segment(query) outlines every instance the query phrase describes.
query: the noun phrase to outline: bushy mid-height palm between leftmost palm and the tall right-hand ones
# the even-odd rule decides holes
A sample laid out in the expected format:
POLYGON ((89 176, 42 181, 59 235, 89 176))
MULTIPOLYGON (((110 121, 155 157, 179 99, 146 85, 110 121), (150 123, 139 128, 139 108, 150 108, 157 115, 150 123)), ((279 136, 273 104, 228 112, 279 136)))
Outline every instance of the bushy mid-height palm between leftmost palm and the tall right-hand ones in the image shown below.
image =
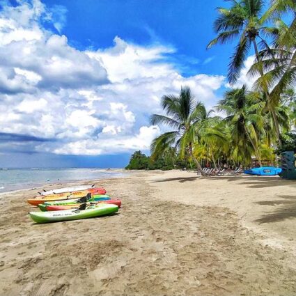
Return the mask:
POLYGON ((263 104, 258 101, 256 93, 248 92, 246 86, 226 91, 224 100, 219 101, 216 108, 226 113, 224 121, 231 127, 235 146, 247 151, 247 146, 251 143, 258 163, 262 166, 259 141, 264 126, 261 114, 263 104))

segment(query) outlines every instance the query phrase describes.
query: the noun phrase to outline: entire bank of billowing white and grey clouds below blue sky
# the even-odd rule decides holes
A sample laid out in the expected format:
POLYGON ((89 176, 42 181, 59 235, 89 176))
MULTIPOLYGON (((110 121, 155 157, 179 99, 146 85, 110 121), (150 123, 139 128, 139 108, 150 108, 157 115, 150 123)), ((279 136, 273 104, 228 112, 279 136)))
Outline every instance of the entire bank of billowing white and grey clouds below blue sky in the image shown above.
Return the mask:
POLYGON ((65 13, 39 0, 0 12, 1 130, 55 139, 30 141, 31 150, 62 155, 147 150, 161 132, 149 117, 162 112, 162 95, 178 94, 187 85, 207 107, 217 102, 224 77, 183 77, 167 59, 176 53, 171 46, 141 46, 118 36, 110 48, 70 46, 57 33, 65 13), (44 22, 55 30, 45 29, 44 22))

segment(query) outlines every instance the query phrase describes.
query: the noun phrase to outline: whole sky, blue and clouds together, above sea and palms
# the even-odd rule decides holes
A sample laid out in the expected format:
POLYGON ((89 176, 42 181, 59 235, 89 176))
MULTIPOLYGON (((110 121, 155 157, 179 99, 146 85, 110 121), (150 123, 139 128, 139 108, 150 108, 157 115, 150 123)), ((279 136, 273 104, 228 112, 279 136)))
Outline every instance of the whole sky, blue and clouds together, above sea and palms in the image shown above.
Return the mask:
POLYGON ((162 95, 210 108, 225 89, 233 46, 205 47, 227 2, 0 3, 0 167, 125 166, 162 132, 162 95))

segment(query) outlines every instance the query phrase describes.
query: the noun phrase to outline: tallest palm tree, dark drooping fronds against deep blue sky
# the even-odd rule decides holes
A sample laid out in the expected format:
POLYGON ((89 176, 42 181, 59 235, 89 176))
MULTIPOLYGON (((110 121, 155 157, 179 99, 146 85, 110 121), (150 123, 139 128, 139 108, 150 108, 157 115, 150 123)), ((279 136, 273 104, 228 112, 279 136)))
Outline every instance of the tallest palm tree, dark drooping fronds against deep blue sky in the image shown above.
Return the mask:
MULTIPOLYGON (((235 52, 231 57, 231 62, 228 65, 228 80, 231 84, 234 84, 240 75, 240 70, 247 58, 251 45, 253 45, 256 55, 259 75, 264 75, 258 45, 264 47, 267 52, 270 51, 266 37, 270 36, 270 32, 273 28, 264 26, 266 17, 261 16, 264 6, 262 0, 231 0, 231 2, 233 5, 230 9, 218 9, 219 17, 214 25, 218 36, 208 44, 207 48, 217 43, 224 44, 233 41, 235 38, 239 39, 235 47, 235 52)), ((267 86, 264 84, 262 86, 263 92, 265 93, 267 108, 272 113, 272 118, 274 120, 276 137, 281 145, 279 123, 274 111, 274 105, 270 103, 270 94, 267 86)))

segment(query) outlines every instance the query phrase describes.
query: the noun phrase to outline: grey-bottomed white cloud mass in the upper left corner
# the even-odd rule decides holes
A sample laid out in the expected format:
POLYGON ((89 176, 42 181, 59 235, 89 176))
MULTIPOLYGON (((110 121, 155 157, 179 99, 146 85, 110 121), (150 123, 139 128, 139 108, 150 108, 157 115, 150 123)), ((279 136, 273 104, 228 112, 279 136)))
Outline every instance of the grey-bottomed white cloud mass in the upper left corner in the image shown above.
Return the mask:
POLYGON ((13 91, 23 90, 26 81, 19 82, 18 77, 14 77, 15 81, 10 79, 14 69, 38 75, 40 88, 79 88, 106 83, 107 72, 100 61, 70 47, 65 36, 40 26, 40 17, 46 15, 45 12, 39 1, 33 1, 31 10, 24 2, 17 8, 6 7, 1 11, 0 66, 5 70, 6 79, 0 80, 0 87, 1 84, 9 87, 7 81, 10 80, 10 84, 23 86, 13 91))

